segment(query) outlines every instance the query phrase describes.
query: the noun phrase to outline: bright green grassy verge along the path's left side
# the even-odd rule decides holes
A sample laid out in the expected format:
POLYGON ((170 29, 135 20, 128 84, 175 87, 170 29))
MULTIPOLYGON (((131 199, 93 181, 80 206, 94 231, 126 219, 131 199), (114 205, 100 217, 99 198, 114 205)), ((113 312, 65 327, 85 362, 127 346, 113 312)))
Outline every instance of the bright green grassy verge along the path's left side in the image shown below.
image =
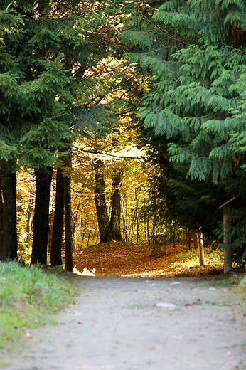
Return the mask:
MULTIPOLYGON (((73 303, 75 287, 34 266, 0 262, 0 349, 28 329, 52 323, 54 312, 73 303)), ((53 320, 54 321, 54 320, 53 320)))

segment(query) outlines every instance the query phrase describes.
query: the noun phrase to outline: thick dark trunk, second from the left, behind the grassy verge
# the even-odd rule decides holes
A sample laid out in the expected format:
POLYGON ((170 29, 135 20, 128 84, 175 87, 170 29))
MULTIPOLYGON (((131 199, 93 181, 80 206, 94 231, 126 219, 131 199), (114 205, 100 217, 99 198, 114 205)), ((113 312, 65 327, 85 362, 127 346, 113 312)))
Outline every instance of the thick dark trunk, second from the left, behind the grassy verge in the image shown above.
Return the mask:
POLYGON ((50 167, 35 171, 36 201, 33 217, 33 250, 31 264, 41 263, 41 265, 46 265, 52 172, 53 169, 50 167))

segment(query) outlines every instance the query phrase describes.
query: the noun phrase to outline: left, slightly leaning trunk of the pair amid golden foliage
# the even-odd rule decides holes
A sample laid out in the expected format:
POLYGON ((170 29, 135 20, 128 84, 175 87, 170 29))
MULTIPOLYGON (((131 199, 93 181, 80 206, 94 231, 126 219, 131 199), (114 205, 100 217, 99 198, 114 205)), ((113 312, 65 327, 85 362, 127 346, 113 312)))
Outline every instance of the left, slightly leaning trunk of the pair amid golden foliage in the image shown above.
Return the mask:
POLYGON ((109 216, 105 199, 105 179, 102 173, 103 162, 98 159, 94 163, 95 168, 95 206, 97 208, 97 220, 100 232, 100 243, 107 243, 112 240, 109 228, 109 216))

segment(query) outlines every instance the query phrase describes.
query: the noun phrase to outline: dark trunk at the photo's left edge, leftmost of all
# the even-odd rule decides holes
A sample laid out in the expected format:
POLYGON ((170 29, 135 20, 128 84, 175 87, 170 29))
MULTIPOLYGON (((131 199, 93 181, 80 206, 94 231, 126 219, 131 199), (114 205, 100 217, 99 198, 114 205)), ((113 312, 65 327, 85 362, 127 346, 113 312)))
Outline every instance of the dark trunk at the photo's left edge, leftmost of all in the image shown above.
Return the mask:
POLYGON ((11 169, 14 162, 1 162, 1 191, 4 203, 0 201, 1 223, 1 260, 17 258, 16 235, 16 174, 11 169))

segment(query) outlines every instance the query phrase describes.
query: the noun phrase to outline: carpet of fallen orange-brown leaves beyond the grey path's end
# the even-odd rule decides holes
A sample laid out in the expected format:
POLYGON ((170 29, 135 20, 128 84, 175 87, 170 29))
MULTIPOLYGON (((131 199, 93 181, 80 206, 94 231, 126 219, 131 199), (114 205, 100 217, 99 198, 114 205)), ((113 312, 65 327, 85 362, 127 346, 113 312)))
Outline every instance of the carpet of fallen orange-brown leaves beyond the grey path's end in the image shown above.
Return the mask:
POLYGON ((223 273, 223 251, 205 248, 205 266, 200 267, 198 250, 183 245, 109 242, 74 251, 75 272, 87 275, 172 277, 174 275, 219 275, 223 273))

